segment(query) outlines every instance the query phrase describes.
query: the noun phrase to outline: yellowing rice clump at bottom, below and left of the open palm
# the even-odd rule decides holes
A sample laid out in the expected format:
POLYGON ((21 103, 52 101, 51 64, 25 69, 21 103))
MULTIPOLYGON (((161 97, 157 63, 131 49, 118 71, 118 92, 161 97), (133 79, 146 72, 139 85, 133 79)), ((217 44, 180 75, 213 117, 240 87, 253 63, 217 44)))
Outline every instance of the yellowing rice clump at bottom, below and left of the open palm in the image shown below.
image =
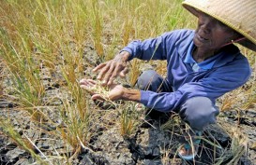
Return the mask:
POLYGON ((90 115, 88 109, 83 107, 83 112, 79 110, 79 105, 63 101, 63 108, 60 109, 61 117, 66 127, 57 129, 56 134, 66 142, 67 151, 71 153, 69 162, 76 158, 81 152, 82 146, 87 146, 91 136, 89 122, 90 115), (82 114, 83 113, 83 114, 82 114))

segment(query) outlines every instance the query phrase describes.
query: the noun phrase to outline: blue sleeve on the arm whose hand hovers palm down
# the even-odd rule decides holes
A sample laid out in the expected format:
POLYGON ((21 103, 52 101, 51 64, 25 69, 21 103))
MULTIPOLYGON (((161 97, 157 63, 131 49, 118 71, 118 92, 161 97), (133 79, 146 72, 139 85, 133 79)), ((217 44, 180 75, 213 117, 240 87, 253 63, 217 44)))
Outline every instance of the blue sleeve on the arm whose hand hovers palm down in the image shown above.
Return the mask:
POLYGON ((134 40, 128 44, 127 47, 121 51, 128 51, 131 55, 129 61, 133 58, 149 61, 149 60, 166 60, 167 49, 172 47, 173 32, 162 34, 156 38, 150 38, 146 40, 134 40))

